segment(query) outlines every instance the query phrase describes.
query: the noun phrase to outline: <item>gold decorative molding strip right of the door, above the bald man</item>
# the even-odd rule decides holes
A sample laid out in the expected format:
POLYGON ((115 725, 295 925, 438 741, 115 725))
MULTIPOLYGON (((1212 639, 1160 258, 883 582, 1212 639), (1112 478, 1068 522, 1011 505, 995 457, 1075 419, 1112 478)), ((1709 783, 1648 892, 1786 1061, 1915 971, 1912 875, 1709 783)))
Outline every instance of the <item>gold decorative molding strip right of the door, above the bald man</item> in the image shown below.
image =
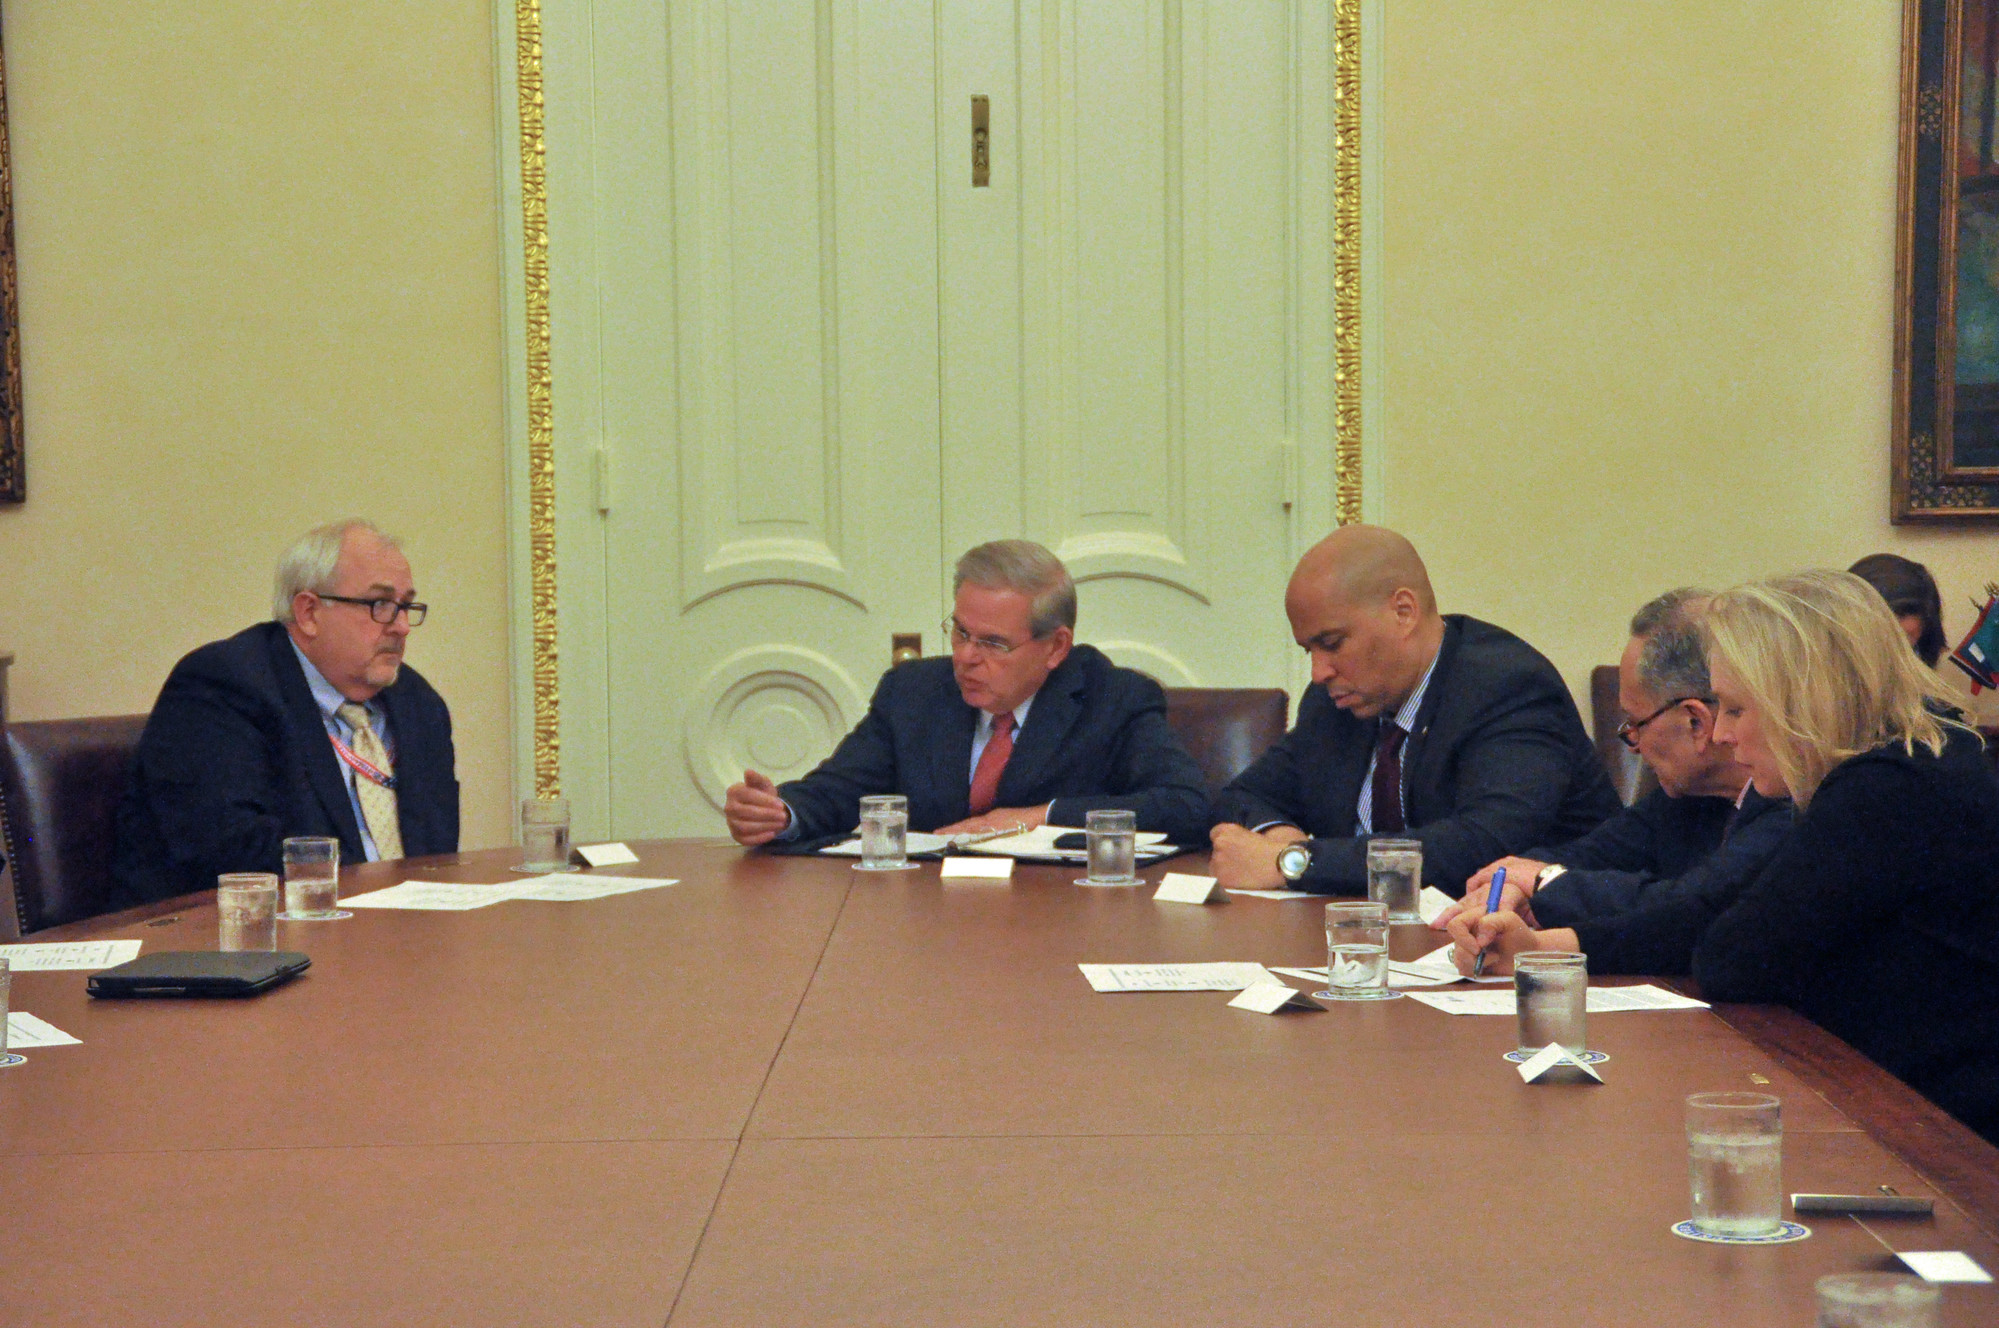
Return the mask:
POLYGON ((1333 478, 1361 518, 1361 0, 1333 0, 1333 478))

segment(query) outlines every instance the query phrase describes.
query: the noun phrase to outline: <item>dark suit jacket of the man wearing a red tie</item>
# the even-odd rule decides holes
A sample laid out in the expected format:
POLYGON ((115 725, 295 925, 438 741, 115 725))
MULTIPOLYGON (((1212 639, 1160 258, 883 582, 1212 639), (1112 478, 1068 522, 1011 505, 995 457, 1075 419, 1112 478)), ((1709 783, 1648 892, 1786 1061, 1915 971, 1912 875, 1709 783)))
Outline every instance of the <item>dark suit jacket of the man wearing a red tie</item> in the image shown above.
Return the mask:
MULTIPOLYGON (((910 828, 936 830, 972 814, 972 736, 948 658, 882 674, 868 714, 812 774, 778 786, 796 838, 846 834, 866 794, 910 798, 910 828)), ((1000 776, 998 806, 1053 802, 1049 822, 1081 826, 1083 812, 1127 808, 1139 830, 1175 844, 1207 838, 1201 770, 1165 726, 1165 694, 1145 674, 1117 668, 1093 646, 1069 650, 1033 696, 1000 776)))

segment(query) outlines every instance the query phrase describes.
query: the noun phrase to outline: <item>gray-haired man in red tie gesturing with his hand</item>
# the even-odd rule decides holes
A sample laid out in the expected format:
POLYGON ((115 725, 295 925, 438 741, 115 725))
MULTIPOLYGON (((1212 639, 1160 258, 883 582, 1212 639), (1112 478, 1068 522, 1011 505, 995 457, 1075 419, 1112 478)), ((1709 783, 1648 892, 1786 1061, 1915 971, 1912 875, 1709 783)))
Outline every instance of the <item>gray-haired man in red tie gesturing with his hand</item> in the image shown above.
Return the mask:
POLYGON ((868 794, 910 798, 910 828, 976 834, 1081 826, 1123 808, 1177 844, 1207 834, 1201 770, 1165 726, 1159 684, 1075 644, 1075 582, 1029 540, 958 560, 950 658, 882 676, 868 714, 818 770, 756 770, 728 792, 738 844, 846 836, 868 794))

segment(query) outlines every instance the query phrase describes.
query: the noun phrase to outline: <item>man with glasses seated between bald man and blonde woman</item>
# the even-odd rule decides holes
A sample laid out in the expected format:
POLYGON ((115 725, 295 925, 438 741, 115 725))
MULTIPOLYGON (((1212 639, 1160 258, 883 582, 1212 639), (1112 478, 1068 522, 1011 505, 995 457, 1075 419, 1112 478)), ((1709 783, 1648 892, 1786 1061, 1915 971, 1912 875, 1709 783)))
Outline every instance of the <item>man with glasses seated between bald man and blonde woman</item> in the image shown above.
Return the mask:
POLYGON ((1617 664, 1617 736, 1659 788, 1561 848, 1487 864, 1433 926, 1461 918, 1469 934, 1493 872, 1505 868, 1499 906, 1537 928, 1575 928, 1593 970, 1687 972, 1693 956, 1657 952, 1639 910, 1681 894, 1727 908, 1791 832, 1791 800, 1755 792, 1749 768, 1715 742, 1707 600, 1707 590, 1683 588, 1637 610, 1617 664))

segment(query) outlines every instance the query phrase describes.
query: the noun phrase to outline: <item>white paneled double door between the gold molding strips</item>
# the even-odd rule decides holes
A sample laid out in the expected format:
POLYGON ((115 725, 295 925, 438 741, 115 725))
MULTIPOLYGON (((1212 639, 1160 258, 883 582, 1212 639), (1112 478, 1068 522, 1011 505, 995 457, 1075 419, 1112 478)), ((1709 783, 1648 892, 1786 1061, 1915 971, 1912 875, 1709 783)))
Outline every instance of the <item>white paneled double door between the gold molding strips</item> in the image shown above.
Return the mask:
POLYGON ((714 834, 746 766, 810 770, 892 636, 946 648, 982 540, 1053 548, 1079 640, 1167 686, 1297 680, 1283 582, 1331 514, 1323 14, 596 0, 588 32, 558 382, 594 362, 572 414, 610 490, 558 536, 602 558, 564 766, 606 832, 714 834))

